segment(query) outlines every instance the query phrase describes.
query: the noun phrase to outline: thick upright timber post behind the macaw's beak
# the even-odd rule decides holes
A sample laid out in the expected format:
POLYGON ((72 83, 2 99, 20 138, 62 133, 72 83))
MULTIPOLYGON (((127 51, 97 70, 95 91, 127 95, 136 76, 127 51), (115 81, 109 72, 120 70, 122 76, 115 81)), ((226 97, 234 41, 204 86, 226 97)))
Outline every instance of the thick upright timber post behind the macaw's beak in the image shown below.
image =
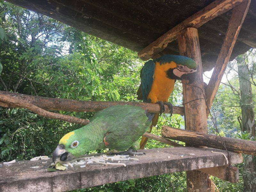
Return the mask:
MULTIPOLYGON (((207 133, 207 116, 203 90, 202 61, 196 28, 186 28, 177 35, 180 55, 196 61, 195 82, 186 85, 183 81, 183 103, 185 107, 185 127, 187 130, 207 133), (190 102, 191 101, 191 102, 190 102)), ((187 191, 204 192, 208 188, 208 174, 200 171, 187 172, 187 191)))

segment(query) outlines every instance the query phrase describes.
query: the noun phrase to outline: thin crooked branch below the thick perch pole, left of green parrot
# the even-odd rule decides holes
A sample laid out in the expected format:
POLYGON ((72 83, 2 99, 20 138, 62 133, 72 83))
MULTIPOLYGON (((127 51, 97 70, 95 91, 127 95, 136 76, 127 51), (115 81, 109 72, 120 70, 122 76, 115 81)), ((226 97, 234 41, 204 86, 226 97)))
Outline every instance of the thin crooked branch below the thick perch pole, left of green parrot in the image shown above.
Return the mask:
POLYGON ((0 100, 4 101, 6 103, 11 103, 17 107, 27 108, 27 109, 33 111, 34 113, 36 113, 40 116, 43 116, 43 117, 63 120, 63 121, 67 121, 70 123, 77 123, 77 124, 82 124, 82 125, 86 125, 89 123, 89 120, 80 119, 80 118, 69 116, 69 115, 62 115, 59 113, 52 113, 50 111, 46 111, 42 108, 39 108, 36 105, 33 105, 33 104, 27 102, 26 100, 20 100, 16 97, 8 97, 7 95, 4 95, 2 93, 0 93, 0 100))

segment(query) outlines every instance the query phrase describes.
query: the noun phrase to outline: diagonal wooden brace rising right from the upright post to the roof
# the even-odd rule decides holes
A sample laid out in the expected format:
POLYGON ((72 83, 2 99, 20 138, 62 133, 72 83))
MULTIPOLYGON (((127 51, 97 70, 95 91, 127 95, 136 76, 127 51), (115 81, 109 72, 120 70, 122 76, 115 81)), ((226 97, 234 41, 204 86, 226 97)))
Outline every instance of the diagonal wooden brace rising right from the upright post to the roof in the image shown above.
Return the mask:
MULTIPOLYGON (((220 53, 216 61, 216 65, 214 67, 212 77, 205 91, 206 102, 209 108, 211 108, 212 102, 218 91, 220 81, 227 67, 229 58, 235 46, 236 39, 238 37, 240 29, 242 28, 242 24, 248 12, 250 3, 251 3, 251 0, 245 0, 243 3, 239 4, 237 7, 233 9, 233 12, 228 24, 228 30, 226 32, 226 36, 224 39, 224 43, 220 49, 220 53)), ((209 110, 207 109, 207 116, 208 114, 209 114, 209 110)))

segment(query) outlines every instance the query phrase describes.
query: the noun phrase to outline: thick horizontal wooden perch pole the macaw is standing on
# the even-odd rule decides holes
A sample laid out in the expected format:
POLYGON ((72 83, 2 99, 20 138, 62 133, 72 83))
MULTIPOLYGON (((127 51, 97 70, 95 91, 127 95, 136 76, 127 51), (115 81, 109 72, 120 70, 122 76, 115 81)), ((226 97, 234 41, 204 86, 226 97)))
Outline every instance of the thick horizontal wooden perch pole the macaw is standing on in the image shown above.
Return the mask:
MULTIPOLYGON (((25 95, 20 93, 12 93, 0 91, 1 94, 12 97, 19 100, 25 100, 33 105, 36 105, 45 110, 60 110, 60 111, 76 111, 76 112, 85 112, 85 111, 100 111, 102 109, 108 108, 113 105, 132 105, 141 107, 148 112, 159 113, 160 107, 158 104, 151 103, 141 103, 141 102, 126 102, 126 101, 80 101, 80 100, 70 100, 70 99, 61 99, 61 98, 49 98, 49 97, 39 97, 32 95, 25 95)), ((1 100, 1 98, 0 98, 1 100)), ((2 107, 19 107, 15 104, 9 104, 0 102, 2 107)), ((164 113, 169 113, 169 108, 165 105, 164 113)), ((173 114, 184 115, 183 107, 173 106, 173 114)))

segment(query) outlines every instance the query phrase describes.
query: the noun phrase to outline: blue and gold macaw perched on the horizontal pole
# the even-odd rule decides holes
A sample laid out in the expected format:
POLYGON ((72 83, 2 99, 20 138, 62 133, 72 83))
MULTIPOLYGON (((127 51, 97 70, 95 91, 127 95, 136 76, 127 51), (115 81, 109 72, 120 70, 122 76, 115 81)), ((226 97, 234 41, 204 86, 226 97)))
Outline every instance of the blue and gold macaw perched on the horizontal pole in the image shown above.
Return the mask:
MULTIPOLYGON (((155 60, 147 61, 140 71, 140 88, 137 92, 138 99, 146 103, 157 103, 160 105, 160 115, 164 112, 166 104, 171 110, 172 104, 168 99, 177 79, 187 79, 189 84, 195 80, 196 62, 188 57, 179 55, 164 55, 155 60)), ((149 128, 156 126, 159 113, 155 113, 149 128)), ((140 149, 143 149, 148 138, 142 137, 140 149)))

